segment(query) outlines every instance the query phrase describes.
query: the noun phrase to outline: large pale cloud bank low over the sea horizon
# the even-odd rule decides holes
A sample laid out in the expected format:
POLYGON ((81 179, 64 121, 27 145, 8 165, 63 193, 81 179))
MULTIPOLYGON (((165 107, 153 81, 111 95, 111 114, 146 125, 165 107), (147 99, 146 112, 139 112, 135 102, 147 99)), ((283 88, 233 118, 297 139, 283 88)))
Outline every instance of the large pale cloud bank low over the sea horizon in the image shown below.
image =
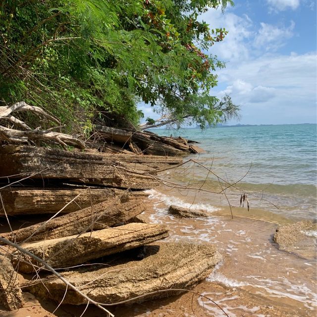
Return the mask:
POLYGON ((316 122, 316 61, 316 53, 291 53, 230 63, 218 72, 227 87, 217 95, 241 105, 242 123, 316 122))

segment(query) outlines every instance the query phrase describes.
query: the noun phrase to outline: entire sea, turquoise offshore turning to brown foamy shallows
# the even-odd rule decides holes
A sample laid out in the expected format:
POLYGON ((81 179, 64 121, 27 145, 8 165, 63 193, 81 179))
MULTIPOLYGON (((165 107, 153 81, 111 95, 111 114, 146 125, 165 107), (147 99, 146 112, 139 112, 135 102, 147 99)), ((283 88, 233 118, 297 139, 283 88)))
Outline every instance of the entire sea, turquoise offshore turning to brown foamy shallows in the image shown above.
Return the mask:
POLYGON ((199 142, 194 145, 206 153, 161 172, 162 185, 148 191, 150 221, 168 226, 166 242, 212 244, 222 261, 195 294, 137 305, 120 316, 315 317, 317 125, 152 131, 199 142), (209 216, 176 218, 170 205, 209 216), (312 222, 301 231, 304 238, 276 244, 278 226, 297 221, 312 222))

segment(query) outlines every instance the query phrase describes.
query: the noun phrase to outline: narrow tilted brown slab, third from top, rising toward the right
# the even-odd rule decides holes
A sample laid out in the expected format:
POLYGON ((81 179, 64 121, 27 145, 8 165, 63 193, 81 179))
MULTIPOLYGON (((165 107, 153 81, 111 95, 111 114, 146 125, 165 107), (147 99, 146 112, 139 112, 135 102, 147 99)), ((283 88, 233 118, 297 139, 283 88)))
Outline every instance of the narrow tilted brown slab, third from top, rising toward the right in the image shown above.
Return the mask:
POLYGON ((40 241, 67 237, 79 234, 83 230, 101 230, 116 224, 124 224, 125 221, 140 214, 145 209, 146 205, 140 200, 128 202, 118 200, 111 207, 109 207, 108 202, 102 202, 80 211, 53 218, 48 223, 43 221, 13 232, 3 233, 0 236, 16 243, 25 239, 28 239, 27 241, 40 241), (96 221, 97 217, 100 217, 98 221, 96 221), (35 231, 36 233, 31 237, 35 231))

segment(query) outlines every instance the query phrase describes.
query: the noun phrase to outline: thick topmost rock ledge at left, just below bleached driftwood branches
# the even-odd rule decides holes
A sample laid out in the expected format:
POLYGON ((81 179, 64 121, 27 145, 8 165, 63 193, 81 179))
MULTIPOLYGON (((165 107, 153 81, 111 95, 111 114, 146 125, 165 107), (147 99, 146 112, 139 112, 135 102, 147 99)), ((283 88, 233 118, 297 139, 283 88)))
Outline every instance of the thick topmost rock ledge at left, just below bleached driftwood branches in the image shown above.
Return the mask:
POLYGON ((104 158, 31 146, 1 146, 0 161, 0 176, 11 179, 23 175, 132 189, 150 189, 158 185, 147 171, 133 169, 111 156, 104 158))

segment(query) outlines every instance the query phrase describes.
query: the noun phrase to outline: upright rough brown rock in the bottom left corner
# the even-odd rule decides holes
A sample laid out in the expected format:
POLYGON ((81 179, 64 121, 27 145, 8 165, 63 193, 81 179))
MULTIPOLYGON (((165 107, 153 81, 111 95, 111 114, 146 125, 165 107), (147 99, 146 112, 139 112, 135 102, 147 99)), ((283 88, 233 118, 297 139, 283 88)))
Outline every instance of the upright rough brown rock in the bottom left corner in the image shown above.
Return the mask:
POLYGON ((23 304, 17 273, 10 260, 0 255, 0 305, 13 311, 23 307, 23 304))

